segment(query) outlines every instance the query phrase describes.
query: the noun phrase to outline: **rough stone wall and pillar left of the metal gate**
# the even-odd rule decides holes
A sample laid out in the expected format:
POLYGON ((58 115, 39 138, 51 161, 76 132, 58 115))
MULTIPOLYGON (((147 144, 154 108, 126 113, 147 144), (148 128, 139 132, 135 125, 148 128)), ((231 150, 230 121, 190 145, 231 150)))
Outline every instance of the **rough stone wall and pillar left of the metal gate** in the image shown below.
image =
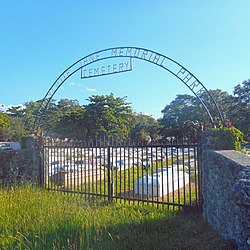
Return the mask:
POLYGON ((0 185, 10 186, 20 183, 39 183, 40 164, 36 142, 25 138, 22 149, 0 153, 0 185))

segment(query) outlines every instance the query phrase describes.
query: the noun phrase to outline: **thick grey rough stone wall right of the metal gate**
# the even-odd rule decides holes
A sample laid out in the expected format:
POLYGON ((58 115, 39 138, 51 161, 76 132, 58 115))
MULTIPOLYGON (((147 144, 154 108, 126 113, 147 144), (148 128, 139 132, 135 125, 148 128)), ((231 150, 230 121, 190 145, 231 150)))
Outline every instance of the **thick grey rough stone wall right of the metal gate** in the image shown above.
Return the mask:
POLYGON ((203 215, 238 249, 250 249, 250 157, 234 150, 211 150, 220 146, 212 136, 203 140, 203 215))

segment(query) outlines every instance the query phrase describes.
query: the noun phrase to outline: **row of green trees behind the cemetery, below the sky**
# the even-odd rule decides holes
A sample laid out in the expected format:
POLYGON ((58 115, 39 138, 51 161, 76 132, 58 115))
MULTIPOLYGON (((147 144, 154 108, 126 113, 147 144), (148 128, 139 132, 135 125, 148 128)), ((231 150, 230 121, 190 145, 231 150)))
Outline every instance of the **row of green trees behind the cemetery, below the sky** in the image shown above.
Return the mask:
MULTIPOLYGON (((250 80, 237 84, 233 95, 220 89, 209 90, 216 100, 223 118, 243 131, 250 139, 250 80)), ((200 98, 208 104, 217 126, 220 116, 206 92, 200 98)), ((77 100, 51 100, 43 114, 41 130, 44 135, 88 139, 114 136, 120 140, 155 140, 168 137, 196 138, 201 130, 212 127, 201 102, 194 96, 179 94, 166 104, 162 118, 135 113, 127 97, 93 95, 88 104, 81 106, 77 100)), ((33 133, 33 127, 42 100, 30 101, 0 113, 0 140, 20 140, 33 133)))

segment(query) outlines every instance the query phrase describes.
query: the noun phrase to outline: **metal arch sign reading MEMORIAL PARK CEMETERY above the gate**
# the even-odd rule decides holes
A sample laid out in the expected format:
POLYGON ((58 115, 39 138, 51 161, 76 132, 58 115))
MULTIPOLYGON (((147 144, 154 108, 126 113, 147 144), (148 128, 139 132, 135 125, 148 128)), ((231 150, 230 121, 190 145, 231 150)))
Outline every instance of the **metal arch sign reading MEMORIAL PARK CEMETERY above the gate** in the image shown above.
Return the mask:
POLYGON ((132 70, 132 62, 134 59, 144 60, 155 64, 169 73, 177 77, 183 82, 192 93, 199 99, 204 109, 206 110, 212 125, 214 126, 214 118, 212 117, 208 105, 200 98, 201 93, 206 92, 210 103, 213 103, 218 112, 218 116, 222 123, 224 123, 221 111, 215 102, 213 96, 208 92, 206 87, 185 67, 173 59, 164 56, 155 51, 138 48, 138 47, 115 47, 103 49, 92 54, 89 54, 70 67, 68 67, 52 84, 46 95, 44 96, 41 105, 38 109, 34 128, 37 131, 41 125, 44 111, 48 107, 49 102, 55 95, 57 90, 63 83, 76 72, 80 71, 81 78, 99 77, 110 74, 117 74, 132 70), (112 59, 112 63, 103 64, 104 60, 112 59))

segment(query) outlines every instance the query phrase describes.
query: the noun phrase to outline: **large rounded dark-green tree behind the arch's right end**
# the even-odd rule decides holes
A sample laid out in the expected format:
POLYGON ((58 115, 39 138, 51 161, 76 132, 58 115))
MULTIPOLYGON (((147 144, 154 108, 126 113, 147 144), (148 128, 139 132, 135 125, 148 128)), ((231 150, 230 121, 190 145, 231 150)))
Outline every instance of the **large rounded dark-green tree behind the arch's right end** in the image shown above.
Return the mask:
MULTIPOLYGON (((222 118, 230 121, 231 110, 236 104, 236 99, 220 89, 209 90, 209 92, 221 110, 222 118)), ((199 131, 214 125, 217 127, 221 125, 223 121, 208 93, 203 92, 200 98, 206 104, 214 124, 211 123, 212 121, 199 99, 190 95, 177 95, 175 100, 166 105, 162 111, 163 118, 160 119, 160 122, 164 126, 162 130, 164 136, 195 138, 199 131)))

